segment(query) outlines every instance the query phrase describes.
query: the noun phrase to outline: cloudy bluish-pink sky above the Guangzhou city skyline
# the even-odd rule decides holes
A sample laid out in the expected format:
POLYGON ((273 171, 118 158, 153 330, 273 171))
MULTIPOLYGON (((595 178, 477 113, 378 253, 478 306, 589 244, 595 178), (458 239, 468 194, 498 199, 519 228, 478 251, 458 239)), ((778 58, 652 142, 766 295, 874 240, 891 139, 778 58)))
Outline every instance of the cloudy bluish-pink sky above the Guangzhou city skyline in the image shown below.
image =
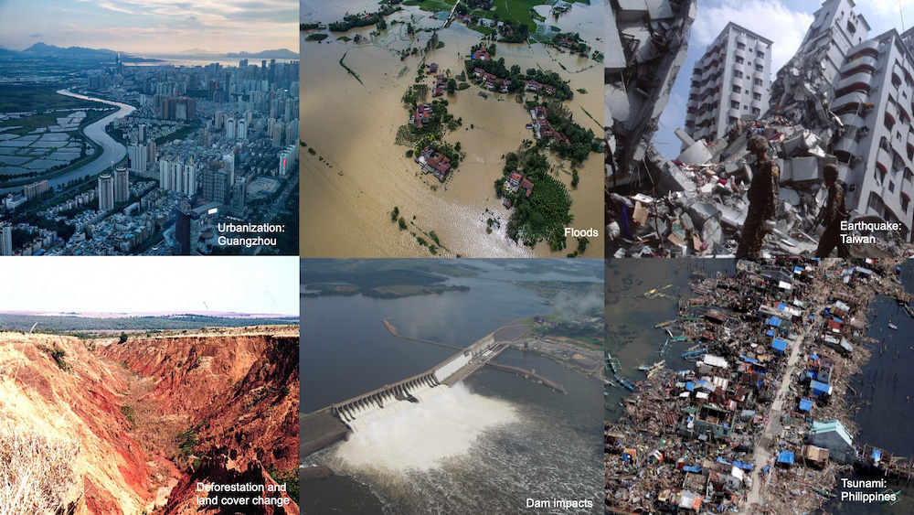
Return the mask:
POLYGON ((0 46, 298 51, 298 0, 0 0, 0 46))

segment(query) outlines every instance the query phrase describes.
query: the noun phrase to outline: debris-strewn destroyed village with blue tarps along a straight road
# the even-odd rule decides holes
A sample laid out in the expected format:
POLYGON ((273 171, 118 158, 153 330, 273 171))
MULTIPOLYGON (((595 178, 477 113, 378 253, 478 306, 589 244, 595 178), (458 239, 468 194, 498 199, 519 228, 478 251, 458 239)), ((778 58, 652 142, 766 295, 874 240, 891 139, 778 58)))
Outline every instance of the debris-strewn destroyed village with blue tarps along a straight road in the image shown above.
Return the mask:
MULTIPOLYGON (((885 333, 867 324, 879 295, 914 317, 901 263, 739 261, 735 272, 694 273, 687 294, 643 292, 675 303, 678 317, 643 329, 663 335, 644 375, 625 377, 607 356, 608 393, 627 395, 605 427, 606 512, 909 512, 891 507, 914 453, 856 437, 877 382, 898 385, 897 375, 858 374, 870 359, 914 352, 870 338, 885 333), (665 365, 683 359, 683 370, 665 365)), ((903 323, 878 329, 900 334, 903 323)))

